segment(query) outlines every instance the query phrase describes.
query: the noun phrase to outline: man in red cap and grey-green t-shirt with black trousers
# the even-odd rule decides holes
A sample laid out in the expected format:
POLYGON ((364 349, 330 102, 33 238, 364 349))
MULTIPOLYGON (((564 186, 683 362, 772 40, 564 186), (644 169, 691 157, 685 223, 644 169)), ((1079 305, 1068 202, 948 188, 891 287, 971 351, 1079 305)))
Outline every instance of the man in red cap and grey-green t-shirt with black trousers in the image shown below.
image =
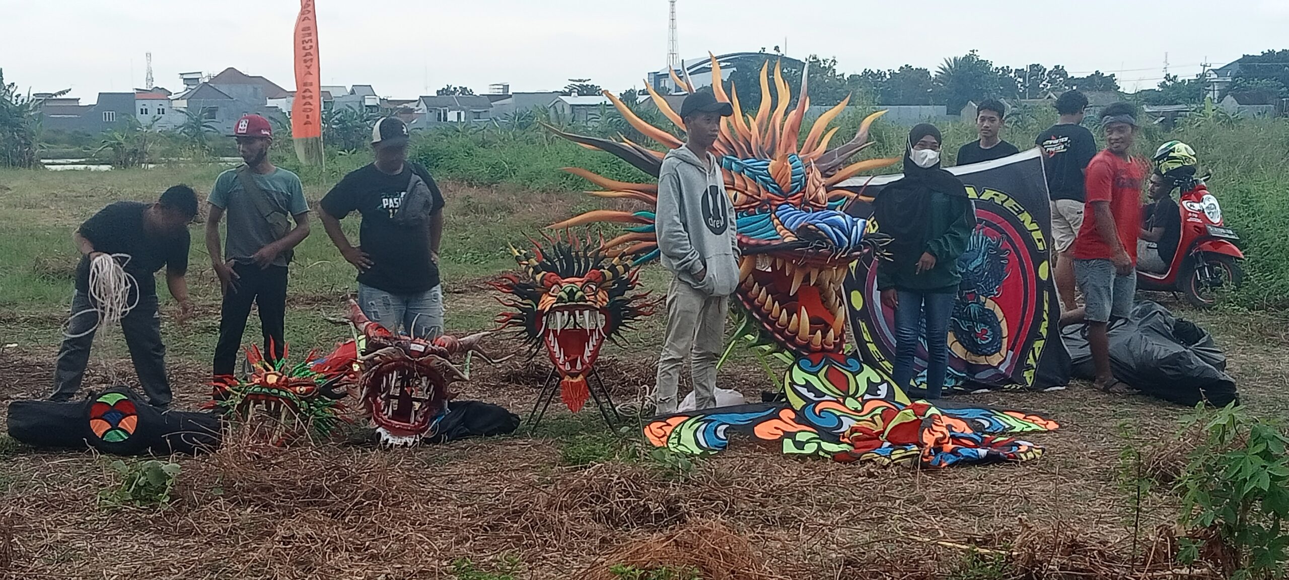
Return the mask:
POLYGON ((231 375, 241 348, 250 307, 259 307, 264 353, 282 357, 286 348, 286 266, 309 235, 309 206, 300 178, 268 161, 273 128, 259 115, 246 115, 233 129, 242 165, 215 179, 206 214, 206 250, 224 302, 219 309, 219 342, 214 375, 231 375), (228 242, 219 244, 219 222, 228 214, 228 242), (287 215, 295 220, 290 227, 287 215), (227 249, 227 255, 224 255, 227 249), (227 262, 224 260, 227 258, 227 262))

